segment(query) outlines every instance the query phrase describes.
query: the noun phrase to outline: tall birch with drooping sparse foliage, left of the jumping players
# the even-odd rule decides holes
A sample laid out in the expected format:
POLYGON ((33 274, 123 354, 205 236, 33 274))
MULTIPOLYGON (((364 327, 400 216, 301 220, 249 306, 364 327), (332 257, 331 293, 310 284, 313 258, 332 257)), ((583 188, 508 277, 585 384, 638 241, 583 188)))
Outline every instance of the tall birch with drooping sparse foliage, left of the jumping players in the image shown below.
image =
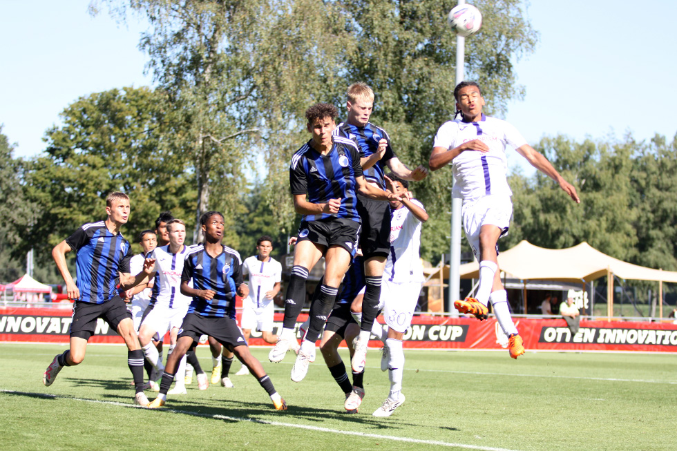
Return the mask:
POLYGON ((331 3, 324 8, 311 0, 105 3, 123 19, 131 8, 149 20, 140 47, 173 112, 173 144, 193 164, 198 217, 210 208, 236 210, 246 185, 245 163, 262 147, 291 152, 284 132, 295 133, 301 105, 312 102, 320 81, 334 77, 327 55, 341 46, 332 28, 325 28, 331 3))

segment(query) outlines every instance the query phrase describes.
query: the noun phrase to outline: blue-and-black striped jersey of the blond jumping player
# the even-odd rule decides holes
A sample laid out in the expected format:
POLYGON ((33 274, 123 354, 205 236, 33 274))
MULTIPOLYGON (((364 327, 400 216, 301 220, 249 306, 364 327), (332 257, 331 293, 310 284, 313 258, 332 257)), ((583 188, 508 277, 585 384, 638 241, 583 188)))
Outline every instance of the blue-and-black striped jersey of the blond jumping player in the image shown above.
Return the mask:
POLYGON ((367 125, 363 127, 354 126, 347 124, 347 122, 341 122, 336 128, 334 128, 334 136, 346 137, 357 145, 357 148, 360 151, 360 157, 370 157, 376 150, 379 148, 379 141, 385 139, 388 141, 388 146, 385 148, 385 153, 381 160, 376 162, 374 166, 369 169, 365 169, 364 177, 368 182, 374 182, 381 186, 381 189, 385 189, 385 165, 388 163, 388 160, 396 157, 395 153, 392 151, 392 146, 390 146, 390 136, 388 133, 385 133, 385 130, 379 126, 375 126, 371 122, 367 122, 367 125))

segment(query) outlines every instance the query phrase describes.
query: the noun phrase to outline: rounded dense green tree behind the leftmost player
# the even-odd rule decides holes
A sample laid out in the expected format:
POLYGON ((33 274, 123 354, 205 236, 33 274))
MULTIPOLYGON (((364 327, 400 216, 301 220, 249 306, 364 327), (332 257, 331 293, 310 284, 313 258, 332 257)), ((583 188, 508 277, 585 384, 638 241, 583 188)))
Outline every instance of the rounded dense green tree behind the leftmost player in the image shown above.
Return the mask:
POLYGON ((166 142, 162 105, 148 88, 124 88, 81 97, 61 113, 64 125, 46 134, 46 155, 28 165, 26 195, 39 209, 19 249, 39 243, 36 262, 50 264, 55 244, 106 217, 111 191, 130 197, 122 230, 130 242, 155 227, 160 211, 194 224, 195 191, 182 155, 166 142))

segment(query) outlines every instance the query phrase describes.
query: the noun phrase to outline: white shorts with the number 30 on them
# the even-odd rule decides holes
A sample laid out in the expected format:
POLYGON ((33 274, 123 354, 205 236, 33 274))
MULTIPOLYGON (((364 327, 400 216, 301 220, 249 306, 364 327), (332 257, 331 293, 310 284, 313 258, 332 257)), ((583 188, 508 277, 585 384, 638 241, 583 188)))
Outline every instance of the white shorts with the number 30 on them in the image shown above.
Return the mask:
POLYGON ((414 309, 421 294, 423 282, 390 282, 385 277, 381 283, 381 302, 385 324, 395 332, 407 332, 414 309))

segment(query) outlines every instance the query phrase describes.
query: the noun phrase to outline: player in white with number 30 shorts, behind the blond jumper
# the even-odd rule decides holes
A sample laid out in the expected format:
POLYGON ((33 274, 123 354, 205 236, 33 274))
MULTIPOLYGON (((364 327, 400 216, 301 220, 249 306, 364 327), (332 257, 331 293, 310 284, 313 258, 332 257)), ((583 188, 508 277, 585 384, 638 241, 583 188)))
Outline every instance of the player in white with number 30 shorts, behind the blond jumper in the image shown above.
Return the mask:
POLYGON ((385 175, 388 189, 402 195, 401 201, 390 202, 390 255, 383 271, 381 304, 388 325, 388 338, 383 348, 381 370, 388 370, 390 394, 374 416, 390 416, 404 403, 402 376, 404 352, 402 337, 411 325, 414 309, 423 287, 423 265, 419 257, 421 224, 428 220, 423 204, 410 197, 409 183, 390 173, 385 175))

